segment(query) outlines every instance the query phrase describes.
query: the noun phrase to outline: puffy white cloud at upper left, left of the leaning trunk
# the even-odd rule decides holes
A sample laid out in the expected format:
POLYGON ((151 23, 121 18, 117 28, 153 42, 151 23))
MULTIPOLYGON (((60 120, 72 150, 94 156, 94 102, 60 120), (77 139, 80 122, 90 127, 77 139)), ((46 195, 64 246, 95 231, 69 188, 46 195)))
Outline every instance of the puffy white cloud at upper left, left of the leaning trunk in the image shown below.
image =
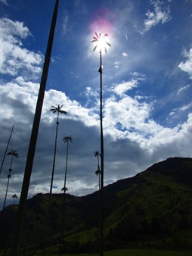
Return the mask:
POLYGON ((36 77, 41 71, 42 55, 23 48, 20 39, 31 36, 23 23, 9 19, 0 19, 0 72, 17 76, 20 70, 27 77, 33 73, 36 77))

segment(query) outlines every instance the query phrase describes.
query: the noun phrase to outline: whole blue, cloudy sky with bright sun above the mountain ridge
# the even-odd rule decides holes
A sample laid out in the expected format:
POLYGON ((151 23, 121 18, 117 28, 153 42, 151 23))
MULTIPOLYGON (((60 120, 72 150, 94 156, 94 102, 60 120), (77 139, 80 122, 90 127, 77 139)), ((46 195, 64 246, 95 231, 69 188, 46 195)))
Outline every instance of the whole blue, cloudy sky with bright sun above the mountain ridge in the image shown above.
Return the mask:
MULTIPOLYGON (((0 0, 0 162, 17 150, 8 188, 20 198, 54 0, 0 0)), ((104 186, 156 162, 192 155, 192 1, 60 0, 28 198, 50 190, 60 114, 54 193, 98 190, 100 56, 94 33, 107 33, 103 60, 104 186)), ((11 156, 0 176, 5 198, 11 156)))

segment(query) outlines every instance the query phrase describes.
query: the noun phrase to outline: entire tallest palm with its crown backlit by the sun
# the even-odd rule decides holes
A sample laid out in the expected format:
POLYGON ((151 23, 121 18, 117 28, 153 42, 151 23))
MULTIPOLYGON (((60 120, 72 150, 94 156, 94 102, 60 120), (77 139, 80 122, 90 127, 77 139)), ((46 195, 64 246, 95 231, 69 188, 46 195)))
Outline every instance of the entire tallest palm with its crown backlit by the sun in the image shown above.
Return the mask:
POLYGON ((93 36, 91 43, 94 43, 95 51, 97 48, 100 55, 100 67, 98 72, 100 73, 100 128, 101 128, 101 200, 100 200, 100 256, 104 255, 104 133, 103 133, 103 65, 102 65, 102 52, 107 52, 107 47, 111 47, 110 43, 106 41, 108 34, 101 35, 101 33, 96 33, 93 36))

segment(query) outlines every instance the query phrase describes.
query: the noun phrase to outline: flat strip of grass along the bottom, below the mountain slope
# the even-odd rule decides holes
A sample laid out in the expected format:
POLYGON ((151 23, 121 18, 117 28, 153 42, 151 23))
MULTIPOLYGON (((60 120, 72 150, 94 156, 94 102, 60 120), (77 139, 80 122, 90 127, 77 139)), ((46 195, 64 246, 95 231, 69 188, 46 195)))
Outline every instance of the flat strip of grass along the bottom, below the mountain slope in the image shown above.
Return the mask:
MULTIPOLYGON (((33 254, 33 256, 42 255, 42 252, 33 254)), ((45 254, 47 256, 48 254, 45 254)), ((51 256, 57 256, 58 254, 52 254, 51 256)), ((192 251, 156 251, 156 250, 114 250, 105 251, 104 256, 191 256, 192 251)), ((0 252, 0 256, 8 256, 0 252)), ((28 256, 26 254, 25 256, 28 256)), ((99 256, 99 254, 62 254, 62 256, 99 256)))

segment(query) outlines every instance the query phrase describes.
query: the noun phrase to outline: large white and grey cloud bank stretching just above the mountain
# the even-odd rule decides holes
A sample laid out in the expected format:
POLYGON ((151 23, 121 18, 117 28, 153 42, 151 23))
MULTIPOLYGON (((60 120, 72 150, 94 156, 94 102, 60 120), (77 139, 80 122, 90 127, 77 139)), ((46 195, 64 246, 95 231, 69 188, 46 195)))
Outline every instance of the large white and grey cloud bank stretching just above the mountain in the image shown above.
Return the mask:
MULTIPOLYGON (((181 126, 176 126, 172 129, 160 126, 150 118, 153 110, 152 104, 140 102, 137 100, 138 97, 131 98, 123 93, 137 83, 131 81, 130 84, 126 84, 127 87, 122 89, 121 99, 117 100, 116 96, 112 95, 104 102, 106 184, 129 176, 128 165, 132 166, 134 172, 136 172, 139 168, 144 168, 144 163, 149 165, 153 158, 157 161, 157 159, 161 160, 170 155, 177 155, 182 146, 185 149, 181 152, 186 155, 187 148, 189 148, 186 143, 190 144, 190 139, 186 142, 184 136, 192 136, 190 132, 192 127, 191 115, 189 115, 187 122, 181 126), (122 129, 119 129, 116 123, 121 123, 122 129), (175 141, 176 145, 174 144, 175 141), (116 150, 118 150, 117 155, 116 150), (147 153, 149 159, 145 156, 147 153), (130 160, 131 155, 132 161, 130 160), (139 158, 143 159, 144 163, 140 165, 139 161, 137 161, 138 165, 135 164, 136 155, 139 155, 139 158), (111 164, 111 159, 113 159, 113 164, 111 164), (116 168, 121 170, 121 173, 117 174, 116 168)), ((7 123, 7 127, 12 123, 15 124, 11 146, 17 147, 17 151, 20 153, 19 161, 14 161, 13 175, 11 177, 13 183, 10 186, 10 195, 17 193, 19 196, 20 194, 26 148, 29 142, 30 127, 33 123, 38 87, 38 84, 26 81, 19 76, 12 83, 2 85, 0 89, 0 96, 3 97, 1 98, 2 109, 4 110, 1 112, 2 124, 5 125, 7 123), (11 120, 11 123, 9 120, 11 120), (18 176, 19 173, 20 176, 18 176), (16 176, 17 182, 15 180, 16 176)), ((87 92, 92 96, 93 91, 91 88, 87 88, 87 92)), ((98 95, 93 96, 98 97, 98 95)), ((94 176, 97 161, 94 161, 93 156, 93 152, 98 150, 99 146, 98 113, 95 113, 94 108, 83 108, 78 101, 70 100, 65 93, 50 89, 45 92, 29 196, 38 192, 49 191, 56 121, 55 115, 49 109, 54 103, 63 104, 63 110, 67 111, 67 116, 60 115, 57 170, 54 178, 54 186, 57 186, 57 189, 54 192, 60 192, 60 188, 63 186, 62 179, 60 180, 64 154, 62 137, 67 134, 73 136, 73 145, 70 147, 67 183, 69 192, 75 195, 85 195, 93 192, 98 188, 97 176, 94 176), (74 184, 76 184, 75 187, 74 184)), ((2 138, 7 138, 8 129, 4 130, 1 125, 1 131, 2 138)), ((3 145, 6 145, 6 139, 3 145)), ((4 147, 2 146, 2 148, 4 147)), ((7 164, 5 164, 5 167, 7 164)), ((3 170, 2 175, 4 178, 2 179, 1 177, 0 187, 3 197, 7 175, 5 170, 3 170)))

